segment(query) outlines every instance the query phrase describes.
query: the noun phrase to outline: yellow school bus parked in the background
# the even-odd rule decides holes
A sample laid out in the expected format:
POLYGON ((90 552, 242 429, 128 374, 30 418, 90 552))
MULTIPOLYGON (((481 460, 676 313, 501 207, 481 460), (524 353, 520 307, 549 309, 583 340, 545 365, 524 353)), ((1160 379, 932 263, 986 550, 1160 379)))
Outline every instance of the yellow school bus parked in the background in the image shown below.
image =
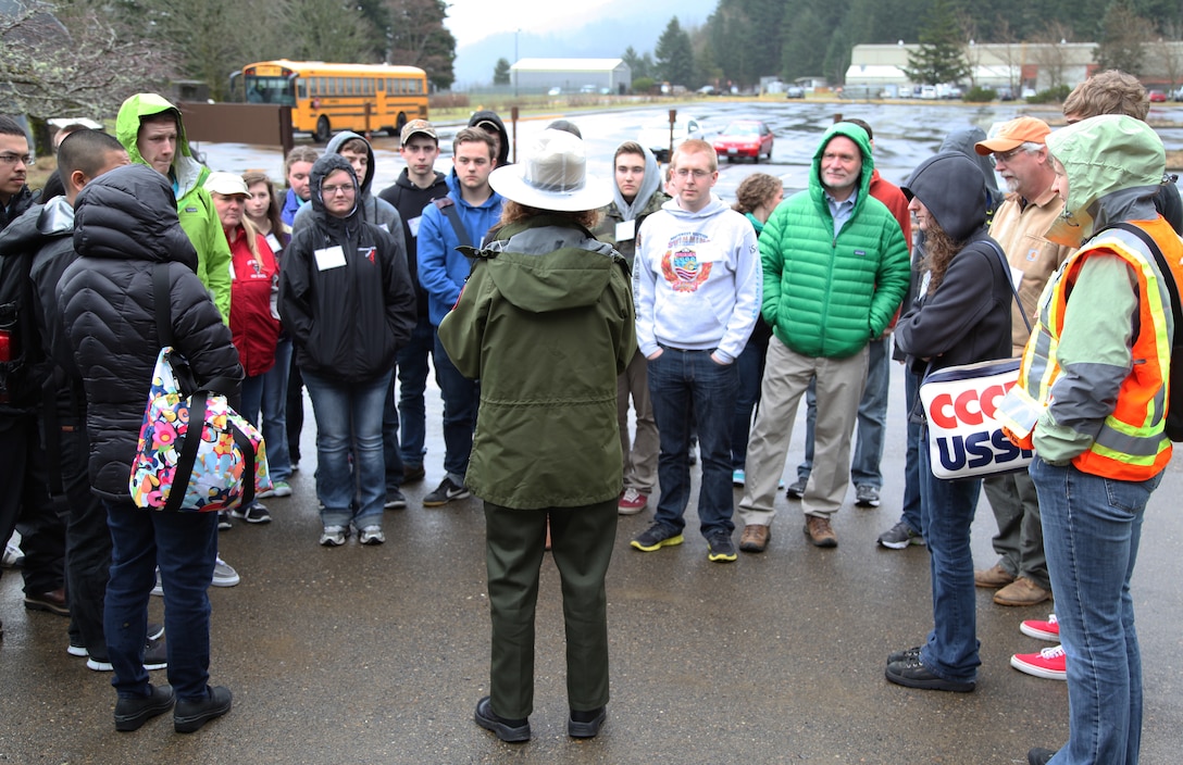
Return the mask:
POLYGON ((322 142, 337 130, 396 136, 412 119, 427 119, 427 74, 415 66, 258 61, 231 76, 231 92, 291 106, 292 130, 322 142))

